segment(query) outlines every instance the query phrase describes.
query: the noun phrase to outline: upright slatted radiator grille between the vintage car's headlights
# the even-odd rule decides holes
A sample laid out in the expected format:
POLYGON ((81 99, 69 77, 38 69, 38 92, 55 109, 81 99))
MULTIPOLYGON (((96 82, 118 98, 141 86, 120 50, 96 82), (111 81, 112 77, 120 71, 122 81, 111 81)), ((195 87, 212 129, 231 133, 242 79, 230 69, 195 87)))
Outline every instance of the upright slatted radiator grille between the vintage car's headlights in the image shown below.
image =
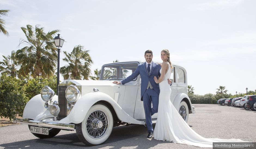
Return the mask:
POLYGON ((58 114, 57 120, 61 120, 68 116, 71 110, 67 109, 67 103, 65 97, 65 91, 68 86, 58 86, 58 102, 60 107, 60 113, 58 114))

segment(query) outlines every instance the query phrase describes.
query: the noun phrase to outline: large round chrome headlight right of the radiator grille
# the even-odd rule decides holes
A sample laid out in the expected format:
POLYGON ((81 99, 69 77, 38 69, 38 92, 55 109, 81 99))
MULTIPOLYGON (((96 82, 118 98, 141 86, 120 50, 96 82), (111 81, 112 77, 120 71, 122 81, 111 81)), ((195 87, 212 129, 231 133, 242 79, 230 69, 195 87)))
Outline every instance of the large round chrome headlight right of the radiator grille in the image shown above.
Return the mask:
POLYGON ((80 91, 78 88, 74 85, 70 85, 65 92, 66 99, 69 102, 75 102, 80 97, 80 91))

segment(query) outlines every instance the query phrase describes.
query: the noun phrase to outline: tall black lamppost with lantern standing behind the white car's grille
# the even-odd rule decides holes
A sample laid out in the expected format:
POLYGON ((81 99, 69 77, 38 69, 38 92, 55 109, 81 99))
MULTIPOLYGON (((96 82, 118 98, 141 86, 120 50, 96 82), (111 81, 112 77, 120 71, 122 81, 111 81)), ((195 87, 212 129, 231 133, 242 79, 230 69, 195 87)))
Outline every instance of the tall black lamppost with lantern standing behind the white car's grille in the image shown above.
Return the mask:
POLYGON ((58 63, 57 63, 57 95, 58 95, 58 85, 60 82, 60 48, 64 43, 64 39, 60 37, 60 34, 54 38, 55 46, 58 48, 58 63))

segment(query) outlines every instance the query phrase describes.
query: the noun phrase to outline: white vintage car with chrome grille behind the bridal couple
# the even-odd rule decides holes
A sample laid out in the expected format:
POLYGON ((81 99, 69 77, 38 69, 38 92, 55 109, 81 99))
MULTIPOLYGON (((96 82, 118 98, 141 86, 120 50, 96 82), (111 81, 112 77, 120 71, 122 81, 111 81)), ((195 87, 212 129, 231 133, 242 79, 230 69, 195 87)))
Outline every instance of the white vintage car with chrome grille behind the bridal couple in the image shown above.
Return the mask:
MULTIPOLYGON (((61 129, 76 129, 78 138, 86 145, 105 142, 115 126, 145 125, 140 76, 125 85, 112 83, 131 75, 143 62, 105 64, 100 80, 64 80, 58 86, 57 96, 45 86, 41 94, 30 99, 23 118, 16 122, 28 124, 31 133, 38 138, 54 137, 61 129)), ((181 66, 173 67, 170 100, 187 122, 188 114, 195 113, 187 96, 187 72, 181 66)), ((153 123, 156 119, 157 114, 154 114, 153 123)))

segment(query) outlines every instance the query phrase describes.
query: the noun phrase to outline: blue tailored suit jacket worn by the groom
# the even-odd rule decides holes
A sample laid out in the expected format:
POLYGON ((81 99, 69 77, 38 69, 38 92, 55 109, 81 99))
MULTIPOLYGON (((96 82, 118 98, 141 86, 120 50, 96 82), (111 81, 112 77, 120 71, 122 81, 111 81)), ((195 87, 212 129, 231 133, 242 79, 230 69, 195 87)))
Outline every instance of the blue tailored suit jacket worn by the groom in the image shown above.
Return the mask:
POLYGON ((121 83, 125 84, 135 79, 138 75, 141 75, 141 101, 142 101, 142 97, 148 86, 148 81, 150 81, 151 85, 153 86, 153 89, 158 94, 160 93, 159 84, 157 84, 154 80, 154 76, 159 78, 159 76, 161 75, 160 69, 161 69, 161 66, 153 62, 151 72, 150 74, 148 74, 148 71, 146 69, 146 62, 144 62, 142 64, 139 64, 135 72, 133 72, 132 75, 122 80, 121 83))

